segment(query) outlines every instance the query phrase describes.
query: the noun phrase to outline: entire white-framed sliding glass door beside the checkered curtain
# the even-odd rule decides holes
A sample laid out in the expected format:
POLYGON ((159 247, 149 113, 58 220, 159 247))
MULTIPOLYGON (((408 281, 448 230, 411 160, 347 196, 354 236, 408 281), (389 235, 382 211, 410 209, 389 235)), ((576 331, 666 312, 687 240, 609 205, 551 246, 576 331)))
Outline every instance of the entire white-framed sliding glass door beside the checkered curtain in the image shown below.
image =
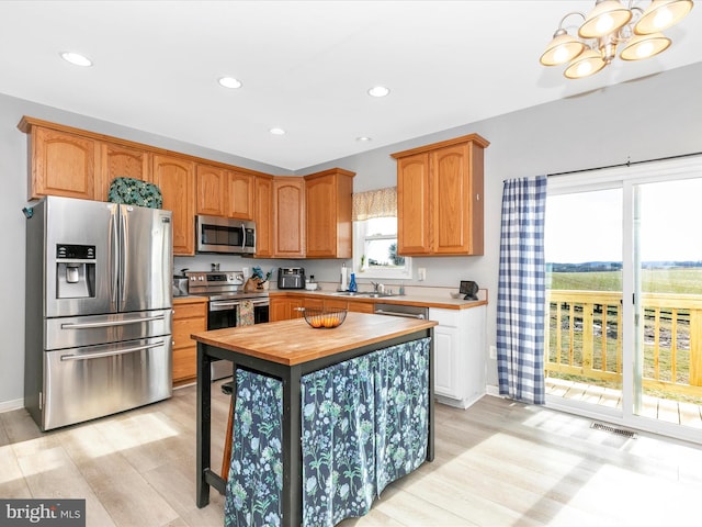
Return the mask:
POLYGON ((547 403, 699 441, 702 162, 587 176, 548 181, 547 403))

